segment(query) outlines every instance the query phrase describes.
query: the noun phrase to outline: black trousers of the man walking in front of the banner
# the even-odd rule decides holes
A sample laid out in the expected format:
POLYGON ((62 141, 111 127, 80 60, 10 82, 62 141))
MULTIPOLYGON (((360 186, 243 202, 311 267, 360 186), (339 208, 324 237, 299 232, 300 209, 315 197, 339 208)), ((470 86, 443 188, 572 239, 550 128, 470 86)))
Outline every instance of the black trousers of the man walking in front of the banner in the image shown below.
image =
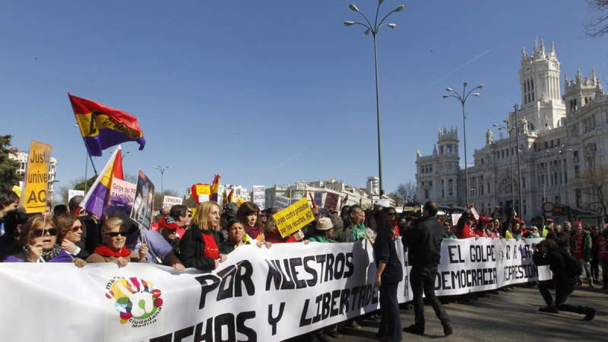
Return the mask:
POLYGON ((422 294, 429 299, 433 305, 435 315, 441 321, 443 326, 450 325, 450 318, 447 316, 446 310, 443 309, 441 302, 435 296, 435 278, 437 278, 437 266, 435 267, 412 267, 410 271, 410 285, 412 285, 412 293, 414 296, 414 325, 417 329, 424 330, 424 299, 422 294))

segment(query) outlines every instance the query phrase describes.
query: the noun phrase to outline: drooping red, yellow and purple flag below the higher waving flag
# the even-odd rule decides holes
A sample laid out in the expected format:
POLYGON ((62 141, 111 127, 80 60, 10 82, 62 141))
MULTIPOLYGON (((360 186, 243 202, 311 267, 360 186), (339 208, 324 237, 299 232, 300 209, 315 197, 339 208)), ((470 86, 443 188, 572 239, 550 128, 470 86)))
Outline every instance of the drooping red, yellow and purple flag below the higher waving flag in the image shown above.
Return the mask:
POLYGON ((122 172, 122 148, 120 145, 112 153, 102 173, 97 176, 97 180, 95 180, 95 183, 93 183, 86 193, 85 198, 80 203, 81 209, 85 209, 97 217, 102 217, 103 208, 108 204, 110 187, 114 178, 124 180, 122 172))

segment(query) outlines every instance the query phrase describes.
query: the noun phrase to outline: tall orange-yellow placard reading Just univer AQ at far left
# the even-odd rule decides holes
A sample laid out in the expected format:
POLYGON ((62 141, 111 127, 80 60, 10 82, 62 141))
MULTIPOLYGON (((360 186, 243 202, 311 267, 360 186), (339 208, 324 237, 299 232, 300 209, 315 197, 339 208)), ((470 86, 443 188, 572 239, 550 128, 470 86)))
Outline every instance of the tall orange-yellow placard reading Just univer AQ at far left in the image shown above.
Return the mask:
POLYGON ((51 145, 44 142, 32 141, 30 144, 20 201, 28 214, 46 211, 50 150, 51 145))

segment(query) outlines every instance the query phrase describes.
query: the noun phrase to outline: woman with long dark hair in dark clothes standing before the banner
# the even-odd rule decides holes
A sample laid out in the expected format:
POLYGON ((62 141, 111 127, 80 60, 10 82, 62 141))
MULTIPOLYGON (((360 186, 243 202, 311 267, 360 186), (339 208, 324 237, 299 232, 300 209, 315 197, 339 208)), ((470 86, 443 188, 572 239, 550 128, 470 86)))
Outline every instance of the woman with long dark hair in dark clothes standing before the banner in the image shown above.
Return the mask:
POLYGON ((386 212, 378 212, 376 227, 378 236, 374 244, 374 258, 378 272, 375 285, 380 288, 380 310, 382 312, 378 337, 381 341, 401 341, 401 316, 397 287, 403 279, 403 267, 397 258, 395 235, 392 234, 392 223, 386 212))

